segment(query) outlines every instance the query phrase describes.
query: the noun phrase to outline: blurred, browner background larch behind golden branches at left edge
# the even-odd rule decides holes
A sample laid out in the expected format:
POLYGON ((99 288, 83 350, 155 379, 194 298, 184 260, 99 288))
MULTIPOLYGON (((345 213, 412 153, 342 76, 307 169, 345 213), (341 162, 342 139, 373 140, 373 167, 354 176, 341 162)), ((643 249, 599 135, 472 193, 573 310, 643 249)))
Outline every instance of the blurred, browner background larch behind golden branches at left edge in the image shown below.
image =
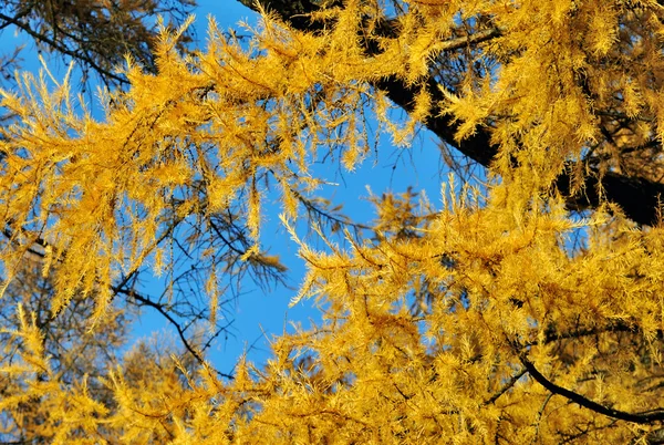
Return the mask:
MULTIPOLYGON (((139 60, 144 69, 156 72, 152 45, 156 41, 158 14, 170 22, 181 22, 190 12, 191 1, 6 1, 0 7, 0 30, 22 34, 25 43, 32 42, 48 62, 75 62, 76 90, 85 92, 96 81, 108 87, 124 87, 127 80, 115 71, 115 66, 126 54, 139 60)), ((180 50, 193 39, 191 32, 180 39, 180 50)), ((4 50, 6 48, 3 48, 4 50)), ((9 49, 0 55, 0 82, 7 90, 15 86, 14 71, 22 63, 25 46, 9 49)), ((17 116, 4 108, 1 122, 8 125, 17 116)), ((11 239, 12 232, 4 225, 2 246, 11 239)), ((42 246, 43 247, 43 246, 42 246)), ((43 250, 39 246, 30 249, 14 270, 15 279, 8 283, 0 299, 0 342, 2 355, 0 366, 15 366, 19 353, 24 353, 28 343, 15 335, 21 323, 32 321, 39 328, 41 346, 50 358, 52 371, 62 384, 73 384, 85 380, 86 391, 96 400, 110 404, 112 392, 100 382, 108 368, 123 363, 132 366, 136 362, 133 352, 124 353, 132 322, 143 307, 151 307, 176 323, 180 330, 186 322, 200 317, 200 308, 195 301, 168 304, 165 301, 149 301, 141 294, 128 294, 133 281, 124 283, 123 301, 116 302, 108 312, 101 329, 91 330, 90 314, 94 299, 75 292, 71 303, 59 317, 53 317, 53 273, 42 273, 43 250), (23 315, 17 309, 21 307, 23 315)), ((180 281, 185 282, 186 278, 180 281)), ((196 341, 185 340, 178 348, 196 341)), ((177 352, 173 348, 169 353, 177 352)), ((144 354, 154 354, 156 344, 136 345, 144 354)), ((190 352, 184 352, 185 363, 193 360, 190 352)), ((162 359, 163 360, 163 359, 162 359)), ((152 361, 151 365, 157 363, 152 361)), ((189 365, 189 364, 188 364, 189 365)), ((135 365, 134 365, 135 368, 135 365)), ((18 370, 18 368, 14 368, 18 370)), ((43 379, 41 376, 40 379, 43 379)), ((41 381, 41 380, 40 380, 41 381)), ((0 418, 0 443, 51 443, 53 423, 59 417, 50 415, 53 405, 44 403, 30 386, 31 379, 20 372, 0 380, 0 403, 9 403, 14 410, 3 410, 0 418)))

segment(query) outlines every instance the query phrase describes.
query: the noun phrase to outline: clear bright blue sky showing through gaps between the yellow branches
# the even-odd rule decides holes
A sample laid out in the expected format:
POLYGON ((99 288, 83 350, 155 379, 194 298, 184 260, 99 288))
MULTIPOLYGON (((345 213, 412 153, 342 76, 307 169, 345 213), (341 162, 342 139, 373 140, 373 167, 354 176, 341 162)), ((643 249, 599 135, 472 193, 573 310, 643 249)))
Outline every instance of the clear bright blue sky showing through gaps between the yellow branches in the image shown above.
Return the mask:
MULTIPOLYGON (((255 24, 257 15, 235 0, 224 1, 198 1, 195 9, 196 34, 199 39, 198 45, 205 45, 207 35, 207 18, 214 15, 220 28, 236 25, 240 20, 255 24)), ((4 32, 0 37, 2 52, 13 49, 22 35, 13 35, 4 32)), ((39 63, 33 45, 28 44, 24 52, 25 69, 37 71, 39 63)), ((48 60, 56 77, 64 74, 63 63, 56 60, 48 60)), ((440 203, 440 172, 442 162, 439 151, 436 146, 435 136, 422 132, 415 138, 411 149, 403 152, 390 144, 388 137, 381 138, 377 158, 370 157, 355 172, 341 170, 338 165, 320 165, 315 169, 329 183, 320 193, 332 199, 335 204, 343 204, 344 211, 359 221, 371 221, 373 208, 367 203, 366 186, 371 187, 374 195, 392 190, 405 192, 413 186, 415 192, 426 190, 429 200, 437 205, 440 203)), ((300 322, 303 327, 310 324, 310 320, 320 321, 319 311, 313 308, 313 301, 301 301, 293 308, 289 308, 291 298, 297 293, 297 288, 304 275, 304 265, 297 257, 298 247, 290 239, 279 221, 278 196, 272 194, 268 203, 264 203, 264 226, 262 228, 261 242, 269 248, 272 255, 279 255, 289 268, 289 287, 277 287, 266 292, 246 280, 242 286, 242 294, 237 302, 226 307, 224 313, 228 320, 234 320, 228 338, 221 338, 210 351, 208 359, 224 373, 231 372, 238 358, 246 351, 249 360, 255 363, 264 363, 269 358, 269 340, 272 335, 280 334, 284 329, 290 330, 290 323, 300 322)), ((299 231, 305 235, 307 227, 300 224, 299 231)), ((162 292, 162 284, 156 279, 146 281, 144 291, 157 296, 162 292)), ((165 321, 155 312, 146 309, 144 317, 134 329, 134 337, 149 337, 151 332, 165 328, 165 321)))

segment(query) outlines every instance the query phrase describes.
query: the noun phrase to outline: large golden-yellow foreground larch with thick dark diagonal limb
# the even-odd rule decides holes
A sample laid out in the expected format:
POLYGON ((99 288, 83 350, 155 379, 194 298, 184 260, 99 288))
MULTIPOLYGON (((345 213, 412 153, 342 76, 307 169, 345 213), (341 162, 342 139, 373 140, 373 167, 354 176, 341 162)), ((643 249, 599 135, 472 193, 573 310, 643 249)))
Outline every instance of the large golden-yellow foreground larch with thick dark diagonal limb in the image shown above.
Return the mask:
POLYGON ((163 27, 156 70, 128 54, 102 117, 68 79, 3 93, 2 333, 21 346, 0 373, 23 395, 2 420, 39 400, 27 416, 54 443, 664 443, 664 7, 247 4, 248 40, 211 21, 187 52, 188 23, 163 27), (376 196, 361 226, 318 198, 313 162, 352 172, 381 134, 402 149, 423 127, 457 172, 439 205, 376 196), (209 337, 181 331, 186 354, 139 344, 92 371, 44 348, 76 304, 91 333, 117 332, 146 267, 181 303, 175 251, 208 304, 189 315, 215 332, 227 276, 284 272, 259 244, 268 192, 308 265, 292 303, 323 315, 268 363, 225 379, 209 337), (41 289, 30 261, 49 323, 24 302, 41 289))

